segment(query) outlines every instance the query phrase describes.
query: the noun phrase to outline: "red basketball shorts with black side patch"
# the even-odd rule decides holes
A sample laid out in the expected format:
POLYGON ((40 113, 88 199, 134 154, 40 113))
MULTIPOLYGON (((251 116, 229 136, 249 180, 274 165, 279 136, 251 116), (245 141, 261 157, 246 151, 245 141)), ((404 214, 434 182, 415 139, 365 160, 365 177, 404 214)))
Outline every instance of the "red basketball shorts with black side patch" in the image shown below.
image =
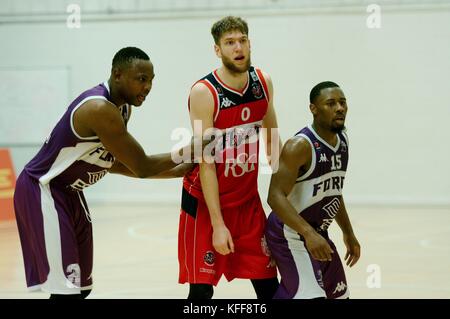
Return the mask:
POLYGON ((276 267, 269 266, 264 237, 266 214, 259 195, 240 206, 222 209, 222 216, 234 242, 234 253, 228 255, 214 250, 206 203, 183 189, 178 232, 179 283, 217 285, 222 274, 228 281, 275 277, 276 267))

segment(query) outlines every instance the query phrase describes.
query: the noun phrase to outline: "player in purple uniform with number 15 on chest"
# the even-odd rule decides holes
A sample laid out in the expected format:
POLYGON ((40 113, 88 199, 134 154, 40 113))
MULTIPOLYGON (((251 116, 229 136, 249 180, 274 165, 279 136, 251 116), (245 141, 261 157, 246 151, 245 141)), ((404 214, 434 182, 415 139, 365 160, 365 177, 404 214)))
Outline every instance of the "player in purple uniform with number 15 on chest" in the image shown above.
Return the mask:
POLYGON ((286 142, 270 183, 273 212, 266 239, 281 275, 275 298, 348 298, 344 269, 327 232, 335 219, 344 235, 346 263, 353 266, 360 245, 342 197, 347 102, 336 83, 322 82, 311 90, 309 107, 313 124, 286 142))

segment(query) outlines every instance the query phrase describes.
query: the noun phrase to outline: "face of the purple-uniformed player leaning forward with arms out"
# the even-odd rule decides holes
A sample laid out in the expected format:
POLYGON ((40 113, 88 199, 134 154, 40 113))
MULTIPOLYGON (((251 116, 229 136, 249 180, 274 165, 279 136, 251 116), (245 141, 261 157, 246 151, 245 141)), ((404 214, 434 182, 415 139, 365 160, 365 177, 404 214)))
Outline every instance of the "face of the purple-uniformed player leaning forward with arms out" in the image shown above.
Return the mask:
POLYGON ((126 103, 141 106, 152 89, 153 64, 147 60, 133 60, 130 67, 123 70, 121 95, 126 103))

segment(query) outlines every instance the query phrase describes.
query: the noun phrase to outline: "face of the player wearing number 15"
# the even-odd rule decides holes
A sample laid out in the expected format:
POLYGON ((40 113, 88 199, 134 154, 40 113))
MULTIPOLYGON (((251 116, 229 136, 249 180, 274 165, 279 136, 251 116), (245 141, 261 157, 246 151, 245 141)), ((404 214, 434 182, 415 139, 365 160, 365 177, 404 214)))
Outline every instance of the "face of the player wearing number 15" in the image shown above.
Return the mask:
POLYGON ((338 87, 322 89, 311 111, 315 121, 323 128, 335 133, 342 131, 347 115, 344 92, 338 87))

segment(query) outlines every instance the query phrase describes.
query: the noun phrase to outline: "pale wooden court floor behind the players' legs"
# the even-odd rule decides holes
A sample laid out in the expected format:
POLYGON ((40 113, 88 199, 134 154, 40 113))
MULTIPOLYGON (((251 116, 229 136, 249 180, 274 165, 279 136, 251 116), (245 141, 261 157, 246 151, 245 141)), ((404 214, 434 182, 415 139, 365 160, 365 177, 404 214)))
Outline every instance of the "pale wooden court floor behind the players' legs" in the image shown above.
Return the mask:
MULTIPOLYGON (((346 267, 351 298, 450 298, 450 208, 348 206, 362 257, 346 267), (379 267, 380 287, 370 288, 379 267)), ((178 205, 93 206, 94 289, 90 298, 185 298, 177 283, 178 205)), ((342 235, 331 237, 341 256, 342 235)), ((29 293, 16 225, 0 223, 0 299, 29 293)), ((227 282, 215 298, 254 298, 248 280, 227 282)))

